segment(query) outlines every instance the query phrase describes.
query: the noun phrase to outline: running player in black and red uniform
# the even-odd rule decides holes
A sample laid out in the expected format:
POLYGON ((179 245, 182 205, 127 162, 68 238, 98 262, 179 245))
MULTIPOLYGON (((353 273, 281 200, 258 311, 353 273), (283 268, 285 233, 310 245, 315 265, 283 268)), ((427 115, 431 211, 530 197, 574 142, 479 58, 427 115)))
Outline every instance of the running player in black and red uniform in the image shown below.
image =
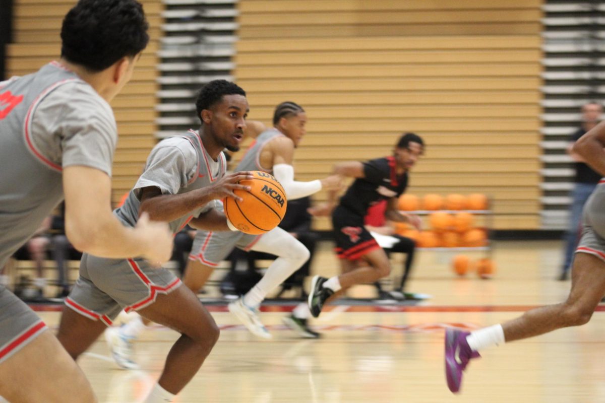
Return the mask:
MULTIPOLYGON (((407 133, 399 138, 394 156, 377 158, 367 163, 353 161, 335 165, 335 173, 355 178, 332 213, 336 253, 341 262, 342 274, 330 279, 313 277, 309 294, 309 309, 313 317, 319 316, 325 301, 332 295, 336 297, 336 292, 342 294, 353 285, 374 283, 390 274, 391 264, 387 254, 364 227, 364 217, 368 207, 387 199, 387 219, 420 227, 417 216, 399 213, 397 198, 405 192, 408 172, 423 152, 422 138, 407 133)), ((312 208, 311 213, 329 213, 335 198, 336 194, 330 193, 329 202, 312 208)))

